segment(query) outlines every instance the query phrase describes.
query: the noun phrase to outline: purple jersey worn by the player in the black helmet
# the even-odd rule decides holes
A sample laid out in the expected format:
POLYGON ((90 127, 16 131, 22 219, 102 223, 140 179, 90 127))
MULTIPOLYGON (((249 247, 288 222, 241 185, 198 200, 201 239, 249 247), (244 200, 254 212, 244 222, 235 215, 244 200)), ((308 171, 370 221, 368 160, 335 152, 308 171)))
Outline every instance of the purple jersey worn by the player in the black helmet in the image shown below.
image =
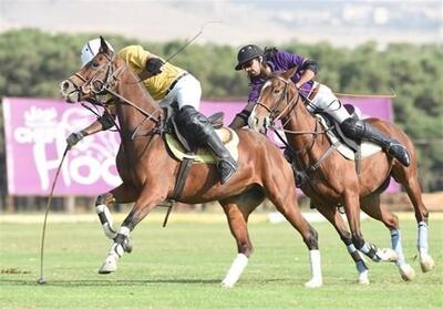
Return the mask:
MULTIPOLYGON (((305 58, 301 55, 292 54, 289 52, 277 52, 275 56, 267 59, 266 63, 269 65, 272 72, 275 71, 288 71, 295 66, 298 66, 296 74, 291 78, 293 83, 297 83, 300 80, 300 76, 305 73, 305 70, 301 70, 300 66, 303 63, 305 58)), ((260 89, 262 84, 266 82, 266 79, 261 76, 250 78, 250 91, 249 91, 249 102, 257 102, 258 96, 260 94, 260 89)), ((309 92, 312 89, 313 80, 305 83, 300 87, 300 93, 305 96, 308 96, 309 92)))

